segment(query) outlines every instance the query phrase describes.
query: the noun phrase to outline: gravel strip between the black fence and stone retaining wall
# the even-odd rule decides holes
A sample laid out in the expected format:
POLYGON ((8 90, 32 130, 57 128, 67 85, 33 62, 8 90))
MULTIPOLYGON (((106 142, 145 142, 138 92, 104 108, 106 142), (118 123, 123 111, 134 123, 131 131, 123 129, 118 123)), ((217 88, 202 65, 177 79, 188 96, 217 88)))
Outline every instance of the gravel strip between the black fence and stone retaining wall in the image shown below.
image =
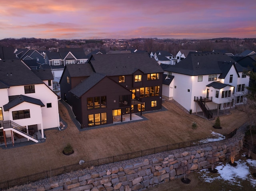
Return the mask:
POLYGON ((186 148, 181 148, 181 149, 176 149, 176 150, 170 150, 167 152, 160 152, 157 154, 151 154, 151 155, 147 155, 147 156, 143 156, 143 157, 139 157, 139 158, 119 161, 119 162, 115 162, 115 163, 108 163, 108 164, 104 164, 104 165, 100 165, 100 166, 94 166, 94 167, 90 167, 90 168, 83 169, 80 171, 74 171, 74 172, 58 175, 56 177, 42 179, 42 180, 27 184, 27 185, 16 186, 16 187, 13 187, 13 188, 10 188, 7 190, 8 191, 32 191, 32 190, 36 190, 37 187, 43 187, 44 185, 47 185, 50 183, 64 181, 65 179, 69 179, 69 178, 71 179, 74 177, 83 176, 86 174, 90 174, 92 172, 101 172, 101 171, 104 171, 107 169, 112 169, 113 167, 125 167, 126 165, 143 162, 145 159, 166 158, 170 154, 182 153, 185 151, 190 152, 190 151, 198 150, 200 148, 205 148, 205 147, 214 146, 214 145, 231 144, 232 142, 241 140, 241 137, 244 136, 244 132, 246 131, 246 126, 247 126, 247 124, 244 124, 243 126, 241 126, 237 130, 236 134, 232 138, 227 139, 227 140, 222 140, 222 141, 218 141, 218 142, 214 142, 214 143, 208 142, 208 143, 201 144, 198 146, 191 146, 191 147, 186 147, 186 148))

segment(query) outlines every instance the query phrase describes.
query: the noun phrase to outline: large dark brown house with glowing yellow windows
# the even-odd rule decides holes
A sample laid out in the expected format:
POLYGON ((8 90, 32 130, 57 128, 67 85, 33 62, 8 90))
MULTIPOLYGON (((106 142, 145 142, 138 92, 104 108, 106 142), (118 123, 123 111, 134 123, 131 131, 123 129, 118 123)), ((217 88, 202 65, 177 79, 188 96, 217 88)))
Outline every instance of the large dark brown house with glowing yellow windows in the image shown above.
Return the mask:
POLYGON ((112 124, 162 108, 163 72, 147 53, 92 55, 86 64, 66 65, 61 97, 82 128, 112 124))

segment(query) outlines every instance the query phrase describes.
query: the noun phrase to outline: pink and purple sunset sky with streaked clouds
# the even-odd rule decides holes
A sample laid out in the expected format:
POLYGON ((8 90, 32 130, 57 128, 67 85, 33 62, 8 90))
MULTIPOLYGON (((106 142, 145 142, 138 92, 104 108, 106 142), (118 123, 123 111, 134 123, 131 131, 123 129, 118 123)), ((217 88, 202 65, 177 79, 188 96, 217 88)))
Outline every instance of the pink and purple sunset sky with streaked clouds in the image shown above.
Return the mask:
POLYGON ((256 0, 1 0, 0 39, 256 38, 256 0))

